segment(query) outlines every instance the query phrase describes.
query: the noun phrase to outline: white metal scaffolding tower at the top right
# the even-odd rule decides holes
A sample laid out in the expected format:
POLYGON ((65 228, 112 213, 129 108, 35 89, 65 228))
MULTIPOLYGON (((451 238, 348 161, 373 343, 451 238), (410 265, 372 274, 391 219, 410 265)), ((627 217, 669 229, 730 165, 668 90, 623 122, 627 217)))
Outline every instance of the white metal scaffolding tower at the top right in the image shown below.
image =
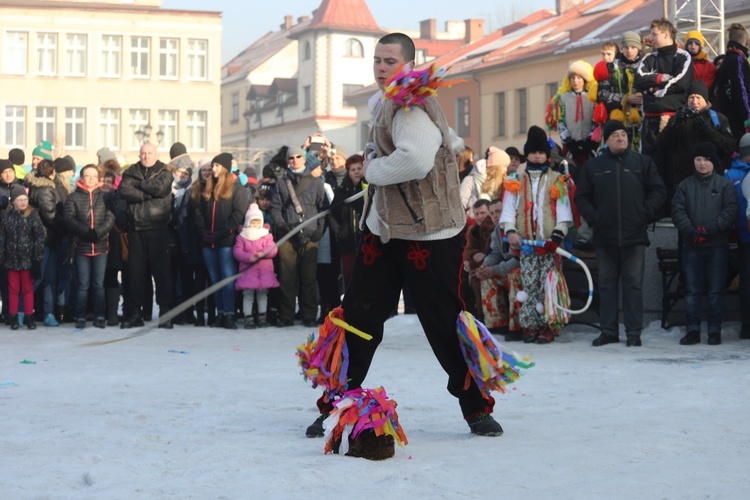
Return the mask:
POLYGON ((715 57, 724 53, 724 0, 664 0, 667 18, 679 32, 698 30, 706 39, 704 50, 715 57))

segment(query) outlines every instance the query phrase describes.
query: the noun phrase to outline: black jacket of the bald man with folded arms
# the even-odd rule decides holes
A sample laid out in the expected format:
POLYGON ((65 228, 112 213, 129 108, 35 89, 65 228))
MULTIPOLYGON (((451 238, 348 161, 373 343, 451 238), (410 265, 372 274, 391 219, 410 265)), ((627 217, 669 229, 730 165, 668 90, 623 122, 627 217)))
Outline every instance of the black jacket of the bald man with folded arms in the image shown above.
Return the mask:
POLYGON ((172 168, 157 161, 141 162, 122 173, 120 196, 128 203, 128 230, 166 230, 172 217, 172 168))

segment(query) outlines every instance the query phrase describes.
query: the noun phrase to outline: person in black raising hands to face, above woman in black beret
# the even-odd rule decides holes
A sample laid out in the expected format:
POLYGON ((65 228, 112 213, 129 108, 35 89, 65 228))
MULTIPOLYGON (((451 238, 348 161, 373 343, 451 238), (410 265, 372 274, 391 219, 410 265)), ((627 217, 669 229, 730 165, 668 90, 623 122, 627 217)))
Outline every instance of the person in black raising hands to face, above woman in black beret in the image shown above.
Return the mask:
POLYGON ((735 147, 729 121, 711 109, 708 89, 701 80, 690 84, 686 104, 669 119, 657 141, 667 162, 665 168, 672 173, 674 186, 695 173, 691 157, 695 144, 710 142, 716 146, 721 161, 716 170, 720 175, 728 168, 735 147))

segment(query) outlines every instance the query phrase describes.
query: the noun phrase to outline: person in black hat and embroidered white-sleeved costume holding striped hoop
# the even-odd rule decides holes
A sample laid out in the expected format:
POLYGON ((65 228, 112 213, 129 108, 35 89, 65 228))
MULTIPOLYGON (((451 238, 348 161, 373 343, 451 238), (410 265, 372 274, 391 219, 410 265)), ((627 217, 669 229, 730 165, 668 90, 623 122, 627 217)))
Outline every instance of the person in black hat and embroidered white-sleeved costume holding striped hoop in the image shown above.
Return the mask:
POLYGON ((573 223, 573 210, 568 179, 551 165, 551 148, 544 130, 529 128, 523 151, 526 165, 518 169, 517 180, 505 181, 500 225, 515 251, 521 249, 521 239, 545 241, 543 248, 521 251, 521 285, 526 299, 521 304, 519 323, 524 342, 548 344, 563 325, 550 321, 556 311, 545 311, 544 284, 555 268, 559 276, 555 251, 573 223))

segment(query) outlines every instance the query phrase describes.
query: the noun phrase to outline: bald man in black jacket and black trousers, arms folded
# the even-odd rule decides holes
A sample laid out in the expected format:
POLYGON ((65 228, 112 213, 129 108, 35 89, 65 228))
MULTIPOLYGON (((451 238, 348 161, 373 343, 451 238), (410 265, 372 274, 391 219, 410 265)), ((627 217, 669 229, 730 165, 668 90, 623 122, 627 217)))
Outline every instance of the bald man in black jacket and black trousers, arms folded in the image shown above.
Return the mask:
MULTIPOLYGON (((169 243, 166 237, 172 215, 171 167, 159 161, 156 146, 141 147, 140 161, 125 170, 120 182, 120 196, 128 204, 127 226, 130 243, 128 280, 130 311, 121 328, 143 326, 142 308, 146 297, 146 280, 154 277, 159 313, 172 306, 172 276, 169 243), (150 273, 145 272, 150 269, 150 273)), ((172 322, 159 325, 172 328, 172 322)))

